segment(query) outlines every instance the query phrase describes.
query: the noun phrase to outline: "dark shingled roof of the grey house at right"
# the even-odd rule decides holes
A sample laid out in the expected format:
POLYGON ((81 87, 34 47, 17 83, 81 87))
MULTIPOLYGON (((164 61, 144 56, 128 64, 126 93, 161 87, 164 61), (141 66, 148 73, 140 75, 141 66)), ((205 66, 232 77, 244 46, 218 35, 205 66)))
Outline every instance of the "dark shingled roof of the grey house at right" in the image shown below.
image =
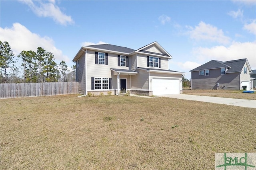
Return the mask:
MULTIPOLYGON (((199 71, 199 70, 210 70, 210 69, 215 69, 215 68, 228 68, 226 73, 230 72, 241 72, 244 64, 248 62, 247 59, 238 59, 238 60, 231 60, 231 61, 217 61, 217 60, 212 60, 209 61, 208 63, 205 63, 197 68, 194 68, 193 70, 190 70, 190 72, 193 71, 199 71)), ((249 65, 249 63, 248 63, 249 65)), ((250 65, 249 65, 250 67, 250 65)), ((248 68, 249 71, 251 68, 248 68)))

